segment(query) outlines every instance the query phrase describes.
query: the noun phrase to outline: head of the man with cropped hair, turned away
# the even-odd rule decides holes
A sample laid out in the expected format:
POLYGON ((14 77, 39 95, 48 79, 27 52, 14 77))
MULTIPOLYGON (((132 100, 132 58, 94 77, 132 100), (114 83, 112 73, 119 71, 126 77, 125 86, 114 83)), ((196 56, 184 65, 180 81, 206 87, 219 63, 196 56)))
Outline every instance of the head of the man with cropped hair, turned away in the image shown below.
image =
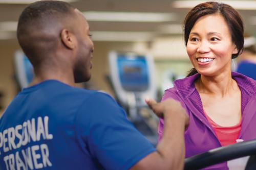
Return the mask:
POLYGON ((17 38, 35 74, 43 74, 42 68, 57 65, 72 69, 75 82, 90 79, 94 47, 89 25, 70 4, 60 1, 31 4, 19 17, 17 38))

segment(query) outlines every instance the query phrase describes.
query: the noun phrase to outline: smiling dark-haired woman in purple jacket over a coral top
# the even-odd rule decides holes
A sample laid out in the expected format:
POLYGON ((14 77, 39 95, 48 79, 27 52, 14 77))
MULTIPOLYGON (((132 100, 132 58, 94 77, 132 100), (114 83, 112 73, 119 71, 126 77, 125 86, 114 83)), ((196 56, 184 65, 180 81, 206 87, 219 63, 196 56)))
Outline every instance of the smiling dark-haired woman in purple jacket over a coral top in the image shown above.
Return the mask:
MULTIPOLYGON (((186 51, 194 68, 165 90, 162 100, 181 102, 189 115, 186 157, 256 138, 256 82, 231 72, 231 59, 243 50, 243 30, 239 13, 217 2, 199 4, 185 18, 186 51)), ((160 119, 159 139, 163 124, 160 119)), ((226 163, 208 168, 228 169, 226 163)))

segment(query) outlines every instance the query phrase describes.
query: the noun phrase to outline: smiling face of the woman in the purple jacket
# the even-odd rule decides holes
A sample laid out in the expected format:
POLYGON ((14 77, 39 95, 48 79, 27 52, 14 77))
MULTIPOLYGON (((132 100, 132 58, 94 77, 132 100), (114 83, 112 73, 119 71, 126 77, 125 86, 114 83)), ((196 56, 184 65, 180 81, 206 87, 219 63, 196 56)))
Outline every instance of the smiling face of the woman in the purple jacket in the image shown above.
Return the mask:
POLYGON ((231 56, 238 53, 228 25, 220 14, 205 15, 196 21, 186 50, 193 66, 204 76, 231 71, 231 56))

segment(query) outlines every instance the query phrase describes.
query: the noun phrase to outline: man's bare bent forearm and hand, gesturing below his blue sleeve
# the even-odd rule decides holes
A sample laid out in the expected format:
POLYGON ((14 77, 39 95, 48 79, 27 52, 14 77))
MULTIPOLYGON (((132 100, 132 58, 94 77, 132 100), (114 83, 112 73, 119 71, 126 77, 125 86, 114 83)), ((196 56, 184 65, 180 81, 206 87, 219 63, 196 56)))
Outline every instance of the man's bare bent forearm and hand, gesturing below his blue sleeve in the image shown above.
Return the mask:
POLYGON ((147 100, 146 103, 159 117, 164 117, 162 140, 153 152, 139 162, 131 170, 136 169, 183 169, 185 147, 184 131, 188 126, 188 116, 180 103, 168 99, 161 103, 147 100))

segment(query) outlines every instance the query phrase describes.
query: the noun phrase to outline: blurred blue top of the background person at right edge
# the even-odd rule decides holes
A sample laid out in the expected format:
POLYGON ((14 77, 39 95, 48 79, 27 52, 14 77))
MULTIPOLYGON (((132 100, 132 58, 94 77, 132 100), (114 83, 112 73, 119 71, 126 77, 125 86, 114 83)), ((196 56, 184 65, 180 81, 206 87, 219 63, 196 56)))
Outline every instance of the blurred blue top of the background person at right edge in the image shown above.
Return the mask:
POLYGON ((237 71, 247 77, 256 80, 256 63, 250 61, 241 61, 238 64, 237 71))

